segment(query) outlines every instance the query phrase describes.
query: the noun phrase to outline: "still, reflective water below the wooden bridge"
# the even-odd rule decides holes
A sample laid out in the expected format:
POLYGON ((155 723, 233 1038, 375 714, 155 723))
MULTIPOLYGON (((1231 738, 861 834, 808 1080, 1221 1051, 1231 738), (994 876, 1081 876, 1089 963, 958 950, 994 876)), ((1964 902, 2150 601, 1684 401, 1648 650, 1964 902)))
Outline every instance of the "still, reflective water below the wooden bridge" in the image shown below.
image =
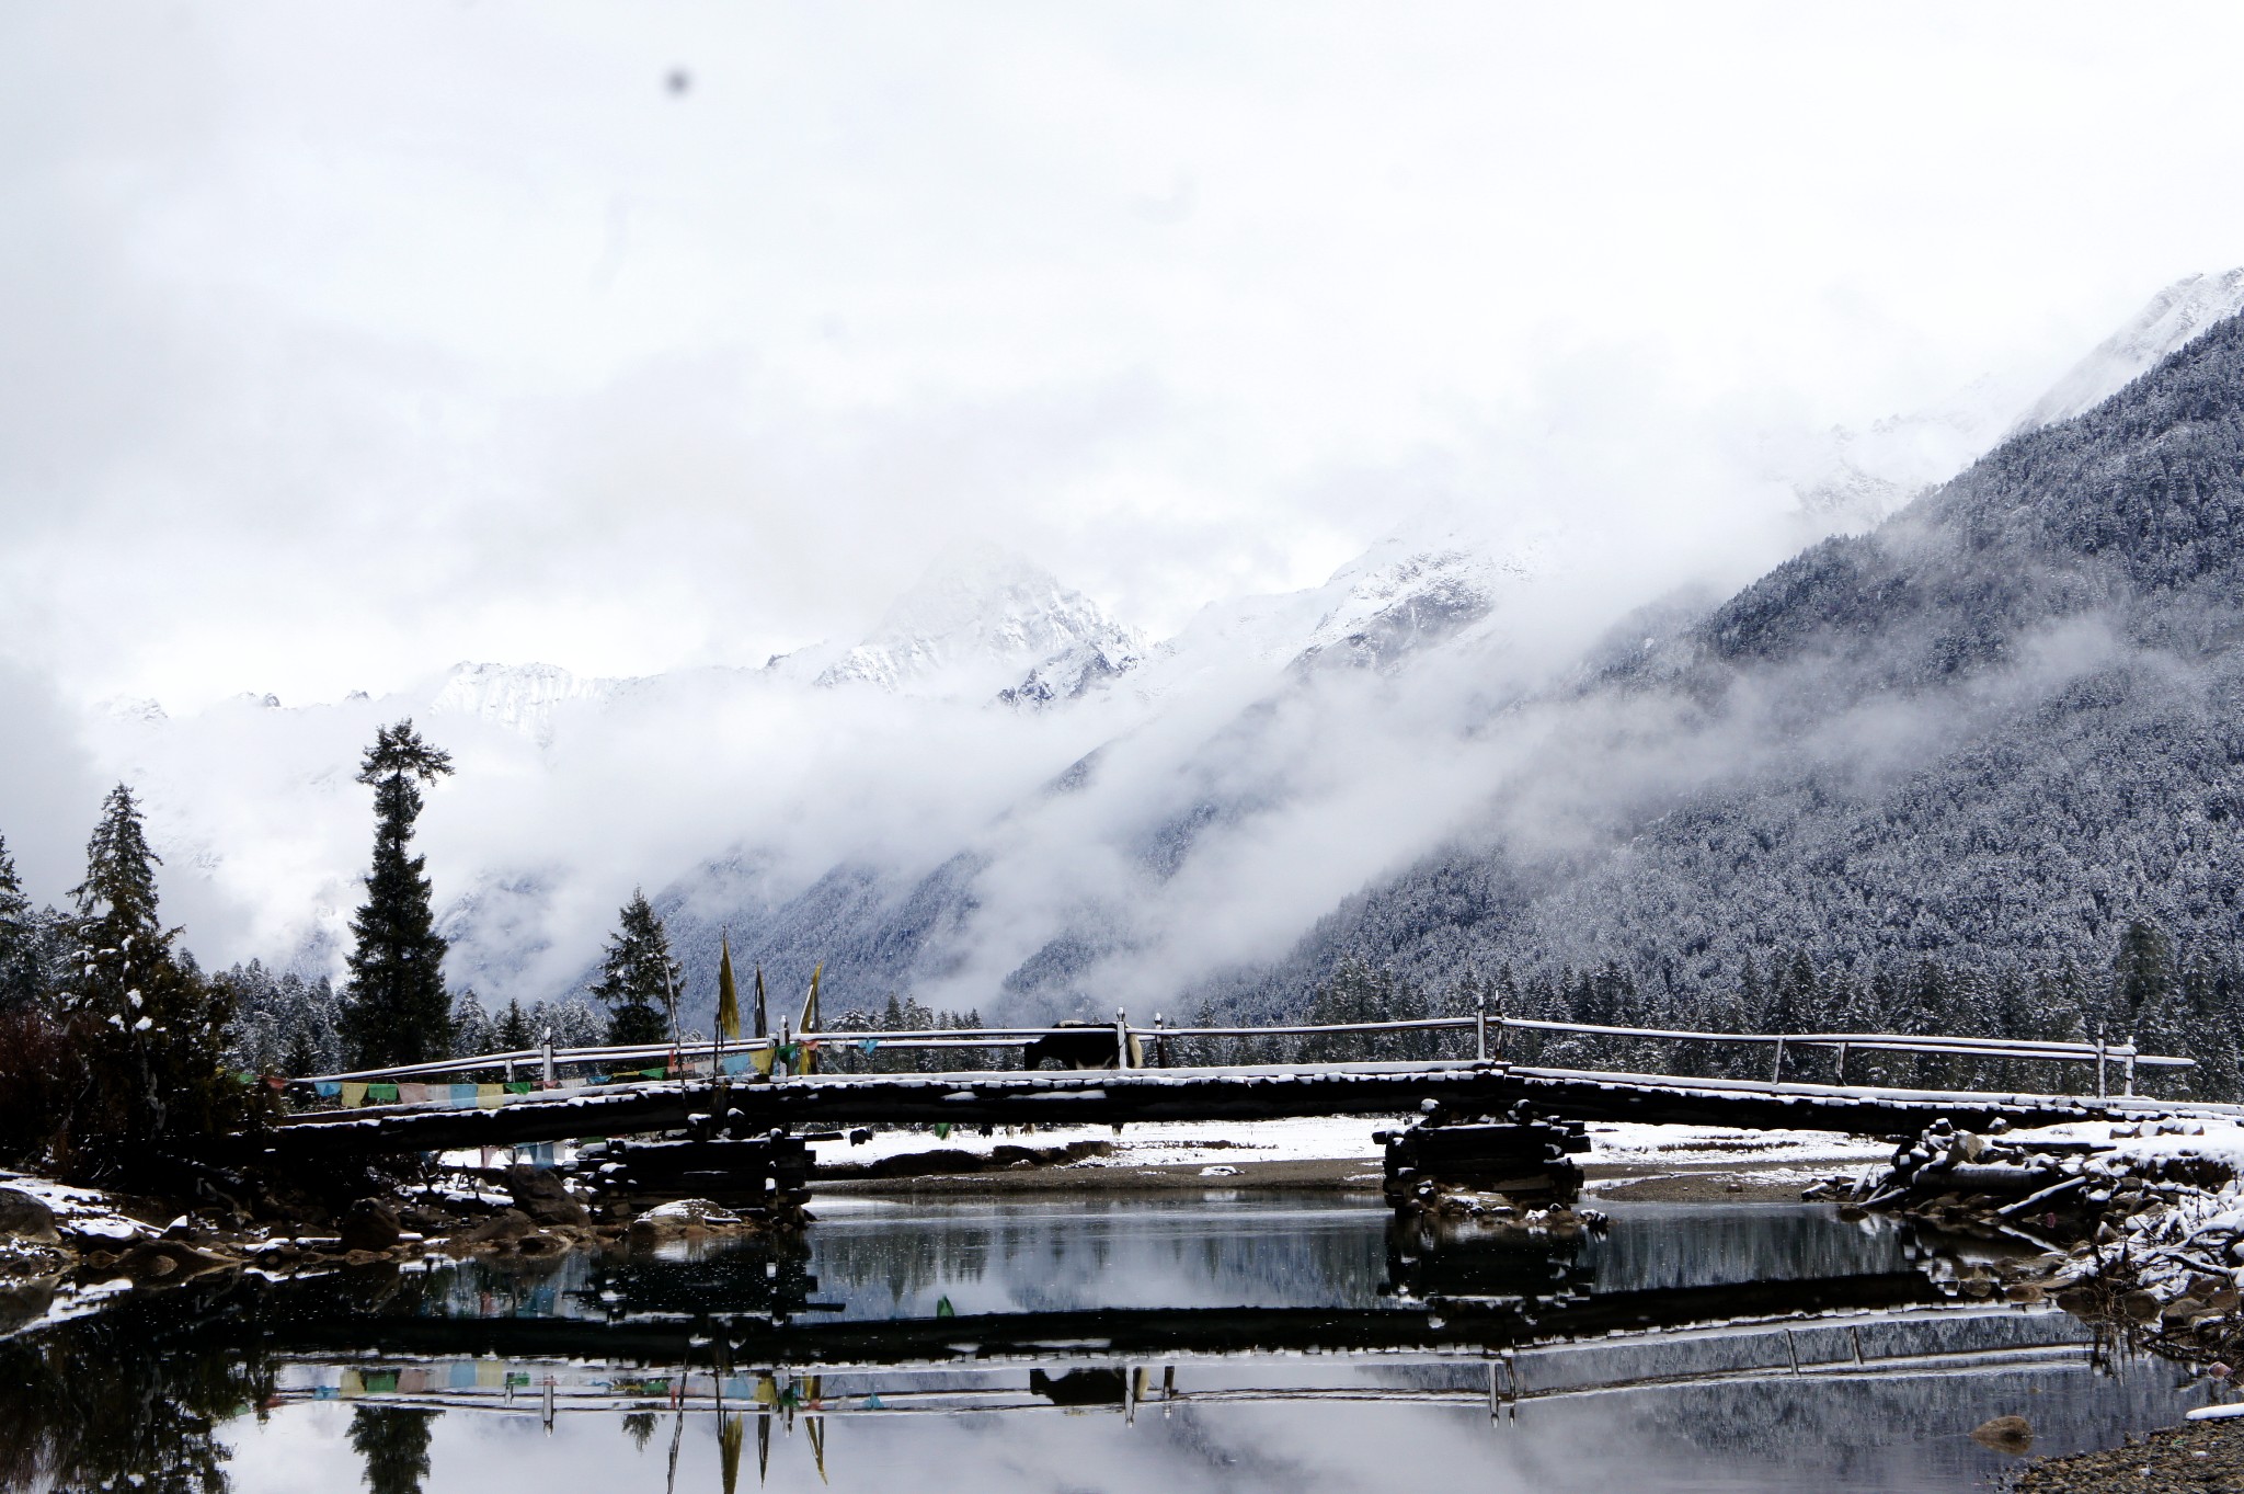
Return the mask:
POLYGON ((197 1281, 0 1341, 0 1487, 1972 1490, 2208 1391, 1820 1207, 1427 1238, 1328 1198, 882 1205, 808 1241, 197 1281))

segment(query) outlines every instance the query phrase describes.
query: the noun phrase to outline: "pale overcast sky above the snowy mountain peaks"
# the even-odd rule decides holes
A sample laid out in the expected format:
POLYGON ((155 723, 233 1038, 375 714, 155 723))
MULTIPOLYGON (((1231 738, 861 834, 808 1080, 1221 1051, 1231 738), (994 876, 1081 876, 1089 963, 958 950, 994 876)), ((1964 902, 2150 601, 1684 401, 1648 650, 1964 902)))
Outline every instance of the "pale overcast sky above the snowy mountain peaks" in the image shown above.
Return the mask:
POLYGON ((1160 635, 1578 500, 1555 424, 2060 370, 2244 262, 2237 56, 2047 0, 13 4, 0 662, 754 662, 960 536, 1160 635))

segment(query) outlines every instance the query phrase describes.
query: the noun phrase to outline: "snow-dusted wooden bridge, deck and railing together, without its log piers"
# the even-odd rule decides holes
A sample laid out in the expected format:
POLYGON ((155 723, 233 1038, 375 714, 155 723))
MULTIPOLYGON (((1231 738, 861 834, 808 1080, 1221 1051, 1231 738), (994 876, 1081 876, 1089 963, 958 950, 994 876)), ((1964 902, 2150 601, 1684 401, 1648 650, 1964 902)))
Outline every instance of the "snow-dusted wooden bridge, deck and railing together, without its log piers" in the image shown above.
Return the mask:
MULTIPOLYGON (((1064 1027, 1070 1041, 1104 1027, 1064 1027)), ((1403 1115, 1434 1104, 1459 1115, 1515 1106, 1582 1122, 1710 1124, 1737 1128, 1910 1135, 1937 1119, 1964 1128, 2040 1126, 2076 1119, 2136 1122, 2172 1115, 2235 1119, 2244 1106, 2134 1095, 2139 1068, 2186 1068, 2188 1059, 2132 1045, 2038 1043, 1901 1034, 1721 1034, 1542 1023, 1479 1012, 1465 1018, 1288 1027, 1131 1027, 1118 1021, 1113 1068, 1061 1072, 819 1072, 837 1054, 880 1050, 1028 1048, 1052 1030, 815 1032, 743 1043, 657 1048, 516 1050, 292 1081, 343 1099, 343 1108, 285 1117, 260 1144, 287 1158, 381 1151, 521 1146, 662 1131, 767 1135, 835 1124, 1106 1124, 1277 1119, 1299 1115, 1403 1115), (1344 1039, 1405 1032, 1470 1032, 1477 1057, 1391 1063, 1243 1063, 1135 1068, 1178 1041, 1344 1039), (1501 1057, 1508 1032, 1569 1032, 1672 1043, 1746 1043, 1771 1052, 1771 1079, 1539 1068, 1501 1057), (1492 1041, 1495 1039, 1495 1041, 1492 1041), (1492 1052, 1495 1048, 1495 1052, 1492 1052), (821 1061, 824 1050, 824 1061, 821 1061), (2094 1072, 2094 1092, 1910 1090, 1784 1079, 1786 1050, 1905 1052, 1979 1061, 2069 1066, 2094 1072), (646 1068, 633 1068, 646 1066, 646 1068), (788 1072, 794 1068, 797 1072, 788 1072), (801 1072, 808 1070, 808 1072, 801 1072), (471 1075, 525 1075, 469 1083, 471 1075), (2121 1095, 2105 1092, 2121 1079, 2121 1095), (357 1104, 352 1104, 357 1101, 357 1104), (373 1101, 373 1104, 368 1104, 373 1101)), ((2060 1068, 2060 1072, 2064 1072, 2060 1068)), ((2087 1088, 2087 1086, 2082 1086, 2087 1088)))

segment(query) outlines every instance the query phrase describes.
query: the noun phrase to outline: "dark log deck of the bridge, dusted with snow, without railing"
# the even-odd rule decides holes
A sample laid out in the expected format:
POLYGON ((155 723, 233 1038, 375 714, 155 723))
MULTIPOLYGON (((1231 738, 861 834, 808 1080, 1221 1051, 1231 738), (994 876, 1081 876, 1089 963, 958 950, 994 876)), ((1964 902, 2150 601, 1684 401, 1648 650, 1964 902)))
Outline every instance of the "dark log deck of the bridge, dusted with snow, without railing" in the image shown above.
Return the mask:
MULTIPOLYGON (((651 1079, 509 1097, 496 1108, 395 1104, 287 1117, 263 1137, 312 1158, 377 1151, 518 1146, 577 1137, 680 1131, 714 1104, 711 1079, 651 1079)), ((1070 1072, 801 1075, 727 1081, 734 1133, 835 1124, 1131 1124, 1403 1115, 1425 1101, 1501 1113, 1526 1101, 1542 1115, 1598 1122, 1907 1135, 1948 1119, 1986 1128, 2078 1119, 2244 1119, 2244 1106, 2139 1095, 1894 1090, 1838 1083, 1690 1079, 1674 1075, 1526 1068, 1501 1061, 1286 1063, 1070 1072)))

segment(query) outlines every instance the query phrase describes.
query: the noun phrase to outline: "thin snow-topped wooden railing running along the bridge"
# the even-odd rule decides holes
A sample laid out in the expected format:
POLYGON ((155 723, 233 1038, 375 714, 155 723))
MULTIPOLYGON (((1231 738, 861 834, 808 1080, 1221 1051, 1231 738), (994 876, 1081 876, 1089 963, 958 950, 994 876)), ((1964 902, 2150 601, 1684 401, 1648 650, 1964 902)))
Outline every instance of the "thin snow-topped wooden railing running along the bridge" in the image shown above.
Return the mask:
MULTIPOLYGON (((303 1079, 292 1079, 294 1086, 310 1086, 321 1095, 341 1095, 352 1104, 364 1104, 366 1088, 375 1086, 411 1086, 411 1088, 440 1088, 433 1081, 444 1077, 469 1077, 469 1075, 505 1075, 503 1083, 471 1083, 451 1088, 473 1088, 478 1101, 498 1099, 500 1104, 509 1097, 505 1092, 489 1095, 489 1090, 550 1090, 550 1088, 577 1088, 583 1083, 631 1083, 640 1079, 678 1079, 678 1077, 714 1077, 718 1070, 738 1077, 765 1077, 765 1075, 799 1075, 803 1068, 824 1068, 833 1072, 833 1054, 844 1054, 844 1068, 853 1068, 855 1059, 846 1054, 875 1054, 882 1050, 895 1052, 949 1052, 949 1050, 1026 1050, 1032 1043, 1048 1041, 1052 1036, 1066 1034, 1066 1039, 1082 1050, 1084 1043, 1097 1048, 1113 1039, 1113 1059, 1122 1068, 1138 1066, 1144 1054, 1153 1066, 1167 1068, 1171 1043, 1205 1043, 1205 1041, 1279 1041, 1279 1039, 1346 1039, 1346 1036, 1380 1036, 1380 1034, 1434 1034, 1434 1032, 1472 1032, 1474 1034, 1474 1057, 1456 1061, 1490 1061, 1501 1059, 1508 1043, 1508 1032, 1560 1032, 1575 1036, 1611 1036, 1611 1039, 1638 1039, 1638 1041, 1663 1041, 1663 1043, 1717 1043, 1717 1045, 1759 1045, 1771 1050, 1771 1081, 1784 1079, 1784 1057, 1786 1050, 1836 1050, 1838 1052, 1838 1081, 1847 1081, 1847 1059, 1854 1052, 1894 1052, 1894 1054, 1946 1054, 1946 1057, 1972 1057, 1972 1059, 2006 1059, 2024 1063, 2082 1063, 2096 1070, 2096 1095, 2105 1095, 2107 1075, 2112 1066, 2118 1066, 2123 1077, 2123 1092, 2134 1092, 2136 1068, 2192 1068, 2192 1059, 2168 1057, 2168 1054, 2145 1054, 2136 1050, 2132 1041, 2107 1043, 2107 1041, 2049 1041, 2049 1039, 1981 1039, 1981 1036, 1948 1036, 1948 1034, 1896 1034, 1896 1032, 1703 1032, 1687 1027, 1620 1027, 1602 1023, 1562 1023, 1542 1021, 1524 1016, 1503 1016, 1497 1012, 1477 1009, 1470 1016, 1427 1016, 1427 1018, 1398 1018, 1398 1021, 1362 1021, 1362 1023, 1272 1023, 1272 1025, 1201 1025, 1201 1027, 1171 1027, 1160 1016, 1153 1018, 1151 1027, 1131 1025, 1126 1014, 1118 1012, 1113 1023, 1091 1023, 1073 1027, 951 1027, 951 1030, 821 1030, 790 1034, 785 1023, 781 1032, 772 1036, 752 1039, 696 1039, 678 1043, 637 1043, 637 1045, 595 1045, 595 1048, 554 1048, 541 1043, 539 1048, 516 1048, 507 1052, 487 1052, 456 1059, 435 1059, 429 1063, 402 1063, 388 1068, 366 1068, 348 1070, 334 1075, 310 1075, 303 1079), (1135 1052, 1133 1052, 1135 1048, 1135 1052), (808 1054, 808 1057, 806 1057, 808 1054), (824 1059, 821 1059, 824 1057, 824 1059), (518 1079, 521 1070, 530 1070, 530 1079, 518 1079), (570 1079, 563 1079, 561 1070, 579 1070, 570 1079), (586 1072, 590 1070, 590 1072, 586 1072), (348 1088, 346 1088, 348 1086, 348 1088)), ((1432 1061, 1432 1059, 1425 1059, 1432 1061)), ((1218 1068, 1243 1068, 1245 1063, 1223 1063, 1218 1068)), ((1297 1068, 1315 1068, 1315 1061, 1302 1063, 1295 1059, 1297 1068)), ((384 1095, 381 1099, 390 1099, 384 1095)))

